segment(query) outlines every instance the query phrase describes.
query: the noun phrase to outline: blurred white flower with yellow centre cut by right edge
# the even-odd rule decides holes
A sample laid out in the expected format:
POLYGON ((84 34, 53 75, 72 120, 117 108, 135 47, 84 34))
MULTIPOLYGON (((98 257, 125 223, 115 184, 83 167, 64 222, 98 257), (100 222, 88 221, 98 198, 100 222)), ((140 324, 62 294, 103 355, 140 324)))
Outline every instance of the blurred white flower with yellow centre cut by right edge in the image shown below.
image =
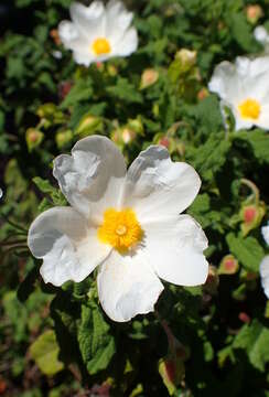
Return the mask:
POLYGON ((235 65, 222 62, 208 84, 230 108, 236 130, 257 126, 269 129, 269 56, 237 57, 235 65))

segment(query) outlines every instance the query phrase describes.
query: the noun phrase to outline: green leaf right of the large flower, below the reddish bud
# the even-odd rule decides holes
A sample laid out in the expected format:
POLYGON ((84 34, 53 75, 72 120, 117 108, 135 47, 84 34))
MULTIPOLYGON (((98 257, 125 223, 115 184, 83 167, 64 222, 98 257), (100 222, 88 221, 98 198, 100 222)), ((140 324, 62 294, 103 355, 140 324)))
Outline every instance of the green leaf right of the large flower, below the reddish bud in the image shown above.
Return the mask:
POLYGON ((238 259, 238 261, 250 271, 259 271, 261 259, 265 251, 254 237, 243 238, 229 233, 226 236, 229 250, 238 259))

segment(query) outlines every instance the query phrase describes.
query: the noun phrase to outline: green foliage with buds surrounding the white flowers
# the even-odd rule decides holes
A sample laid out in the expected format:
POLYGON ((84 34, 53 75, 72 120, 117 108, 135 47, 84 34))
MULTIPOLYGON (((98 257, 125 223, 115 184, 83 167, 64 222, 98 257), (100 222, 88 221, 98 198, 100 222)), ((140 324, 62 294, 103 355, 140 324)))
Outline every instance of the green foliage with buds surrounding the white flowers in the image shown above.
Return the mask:
POLYGON ((88 69, 75 65, 55 31, 69 3, 0 4, 0 395, 269 396, 269 308, 258 273, 268 250, 260 225, 269 137, 236 133, 232 118, 225 131, 218 99, 206 90, 218 62, 262 52, 252 30, 269 28, 269 1, 256 2, 257 21, 247 14, 251 1, 126 1, 139 50, 88 69), (196 58, 175 57, 181 49, 196 58), (143 87, 147 68, 158 78, 143 87), (207 283, 168 285, 157 315, 126 324, 105 316, 94 277, 45 286, 25 244, 33 218, 64 203, 53 158, 90 133, 114 139, 128 163, 148 144, 165 144, 203 180, 189 213, 209 240, 207 283), (232 271, 227 255, 238 261, 232 271))

